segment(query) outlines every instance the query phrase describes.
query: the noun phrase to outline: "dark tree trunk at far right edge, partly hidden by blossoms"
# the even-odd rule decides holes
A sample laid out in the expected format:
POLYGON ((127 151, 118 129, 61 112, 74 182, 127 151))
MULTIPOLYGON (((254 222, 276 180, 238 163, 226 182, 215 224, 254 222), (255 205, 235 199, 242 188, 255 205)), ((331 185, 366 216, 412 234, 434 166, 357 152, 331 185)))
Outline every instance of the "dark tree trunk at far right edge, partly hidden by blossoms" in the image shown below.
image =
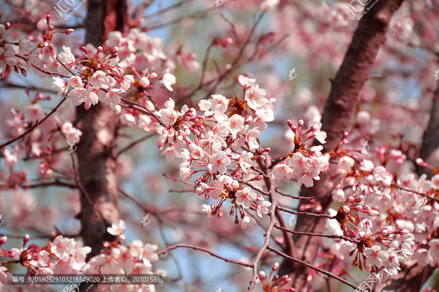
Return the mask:
MULTIPOLYGON (((439 86, 433 97, 433 105, 430 112, 430 120, 424 133, 419 157, 433 166, 439 166, 439 86)), ((426 167, 418 167, 418 175, 427 174, 431 179, 433 171, 426 167)), ((425 237, 424 237, 425 238, 425 237)), ((424 283, 435 271, 434 267, 420 267, 415 265, 408 267, 401 263, 401 271, 398 275, 391 277, 384 284, 384 292, 419 292, 424 283)), ((380 285, 382 286, 382 285, 380 285)), ((376 288, 377 289, 377 288, 376 288)), ((377 290, 376 290, 377 291, 377 290)))

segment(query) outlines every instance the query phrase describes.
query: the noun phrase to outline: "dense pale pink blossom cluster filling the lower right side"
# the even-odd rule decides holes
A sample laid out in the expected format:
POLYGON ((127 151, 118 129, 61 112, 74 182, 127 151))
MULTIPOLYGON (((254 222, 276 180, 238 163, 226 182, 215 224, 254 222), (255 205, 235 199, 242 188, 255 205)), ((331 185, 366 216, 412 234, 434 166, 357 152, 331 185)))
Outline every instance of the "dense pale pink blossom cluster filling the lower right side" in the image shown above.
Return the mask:
MULTIPOLYGON (((400 165, 407 163, 406 156, 382 146, 368 155, 340 147, 335 155, 339 175, 328 184, 333 185, 333 200, 341 206, 337 212, 332 210, 333 219, 328 219, 326 232, 354 240, 325 238, 323 247, 361 270, 382 270, 385 279, 398 274, 400 262, 405 260, 422 267, 436 266, 439 175, 428 180, 425 174, 417 178, 405 170, 395 176, 391 165, 401 169, 400 165), (425 239, 416 241, 422 234, 425 239)), ((417 164, 436 172, 420 159, 417 164)))

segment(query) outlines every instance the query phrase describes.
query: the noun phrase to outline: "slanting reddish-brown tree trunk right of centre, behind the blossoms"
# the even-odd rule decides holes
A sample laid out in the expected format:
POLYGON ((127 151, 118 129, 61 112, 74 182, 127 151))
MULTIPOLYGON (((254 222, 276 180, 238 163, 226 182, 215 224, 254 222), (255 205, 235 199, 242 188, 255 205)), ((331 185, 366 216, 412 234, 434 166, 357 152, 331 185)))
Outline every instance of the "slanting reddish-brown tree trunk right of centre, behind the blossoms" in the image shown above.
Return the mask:
MULTIPOLYGON (((349 129, 358 103, 359 91, 369 78, 369 71, 384 42, 390 18, 402 1, 380 0, 361 18, 339 72, 332 82, 332 88, 323 110, 322 130, 328 134, 327 143, 323 144, 324 152, 335 149, 343 133, 349 129)), ((315 145, 319 145, 318 141, 315 141, 315 145)), ((332 203, 332 196, 324 186, 325 181, 335 175, 331 169, 334 167, 330 167, 327 173, 322 174, 320 180, 314 182, 313 187, 302 187, 300 193, 304 197, 316 197, 322 206, 322 213, 326 213, 332 203)), ((299 216, 295 230, 320 234, 324 230, 324 220, 299 216)), ((293 240, 295 245, 293 256, 313 263, 320 245, 319 239, 293 236, 293 240)), ((288 274, 292 278, 292 286, 297 291, 302 291, 305 288, 309 271, 307 269, 304 273, 303 267, 284 260, 279 267, 278 274, 288 274)))

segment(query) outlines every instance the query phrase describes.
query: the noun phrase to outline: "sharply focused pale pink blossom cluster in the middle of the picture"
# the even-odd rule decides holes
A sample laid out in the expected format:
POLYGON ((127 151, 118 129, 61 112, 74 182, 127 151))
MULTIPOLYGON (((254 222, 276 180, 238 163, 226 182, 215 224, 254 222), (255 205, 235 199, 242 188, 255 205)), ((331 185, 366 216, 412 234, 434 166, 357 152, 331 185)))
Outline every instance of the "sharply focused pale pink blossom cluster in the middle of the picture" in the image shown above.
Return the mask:
MULTIPOLYGON (((205 199, 215 200, 211 205, 203 204, 202 210, 209 217, 223 215, 223 203, 230 199, 230 215, 235 215, 235 224, 246 228, 255 223, 248 210, 256 211, 262 218, 269 212, 270 201, 257 194, 258 183, 263 177, 254 170, 258 161, 265 160, 269 148, 261 148, 259 135, 267 129, 267 123, 274 120, 275 98, 267 97, 254 78, 239 75, 243 94, 227 98, 213 94, 210 99, 200 100, 197 109, 183 106, 175 109, 172 99, 165 103, 157 115, 163 125, 157 128, 157 141, 163 155, 172 159, 179 157, 180 176, 188 181, 197 175, 194 191, 205 199), (256 192, 255 192, 256 190, 256 192), (239 214, 238 214, 239 212, 239 214)), ((291 125, 293 135, 297 133, 297 149, 291 149, 288 165, 278 164, 273 173, 276 179, 283 176, 299 178, 299 184, 311 186, 313 179, 328 166, 328 155, 322 155, 321 146, 307 148, 305 141, 317 138, 324 143, 326 133, 321 124, 316 124, 302 133, 291 125)), ((169 159, 169 160, 170 160, 169 159)), ((259 189, 260 190, 260 189, 259 189)))

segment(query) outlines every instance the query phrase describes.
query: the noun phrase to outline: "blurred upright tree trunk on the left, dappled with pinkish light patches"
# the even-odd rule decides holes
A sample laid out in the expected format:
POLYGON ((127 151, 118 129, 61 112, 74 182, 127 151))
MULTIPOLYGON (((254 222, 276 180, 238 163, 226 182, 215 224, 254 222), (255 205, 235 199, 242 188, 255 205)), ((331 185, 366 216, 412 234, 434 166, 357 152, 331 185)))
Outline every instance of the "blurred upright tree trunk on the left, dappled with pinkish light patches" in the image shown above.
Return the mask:
MULTIPOLYGON (((127 29, 125 0, 88 0, 85 18, 85 43, 96 47, 103 44, 107 33, 127 29)), ((119 118, 102 103, 85 110, 83 104, 76 109, 77 127, 82 131, 77 147, 81 212, 79 219, 84 244, 92 248, 88 258, 96 256, 104 241, 115 237, 107 231, 112 222, 120 219, 117 203, 116 152, 119 118), (92 207, 93 204, 93 207, 92 207)))

